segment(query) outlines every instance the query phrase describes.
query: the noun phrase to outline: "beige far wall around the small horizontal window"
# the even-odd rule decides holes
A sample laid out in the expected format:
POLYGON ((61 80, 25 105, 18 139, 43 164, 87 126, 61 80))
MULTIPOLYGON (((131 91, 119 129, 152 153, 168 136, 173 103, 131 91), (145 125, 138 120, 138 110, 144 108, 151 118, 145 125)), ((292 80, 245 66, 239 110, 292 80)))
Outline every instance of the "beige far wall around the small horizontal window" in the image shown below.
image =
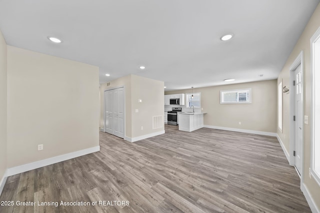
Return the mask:
MULTIPOLYGON (((257 132, 276 132, 276 80, 193 88, 201 92, 204 125, 257 132), (220 104, 220 90, 251 88, 252 103, 220 104), (241 122, 241 125, 239 125, 241 122)), ((190 93, 191 89, 165 94, 190 93)))

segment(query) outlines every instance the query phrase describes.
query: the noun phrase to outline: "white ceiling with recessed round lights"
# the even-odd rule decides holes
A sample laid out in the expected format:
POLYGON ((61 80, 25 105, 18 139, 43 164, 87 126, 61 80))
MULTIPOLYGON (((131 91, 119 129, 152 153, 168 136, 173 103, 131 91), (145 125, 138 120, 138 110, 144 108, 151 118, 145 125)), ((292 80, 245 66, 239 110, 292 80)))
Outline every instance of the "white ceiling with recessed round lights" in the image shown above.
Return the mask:
POLYGON ((276 79, 318 2, 0 0, 0 30, 8 45, 98 66, 100 83, 136 74, 175 90, 276 79))

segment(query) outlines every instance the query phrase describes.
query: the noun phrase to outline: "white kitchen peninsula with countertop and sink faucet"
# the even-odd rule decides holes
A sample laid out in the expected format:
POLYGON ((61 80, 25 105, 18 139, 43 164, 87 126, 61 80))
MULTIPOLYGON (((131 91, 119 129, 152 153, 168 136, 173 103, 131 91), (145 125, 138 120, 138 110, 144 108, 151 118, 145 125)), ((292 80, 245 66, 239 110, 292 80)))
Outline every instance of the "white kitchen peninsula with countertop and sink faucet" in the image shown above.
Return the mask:
POLYGON ((203 127, 203 114, 206 112, 182 112, 179 116, 179 130, 192 132, 203 127))

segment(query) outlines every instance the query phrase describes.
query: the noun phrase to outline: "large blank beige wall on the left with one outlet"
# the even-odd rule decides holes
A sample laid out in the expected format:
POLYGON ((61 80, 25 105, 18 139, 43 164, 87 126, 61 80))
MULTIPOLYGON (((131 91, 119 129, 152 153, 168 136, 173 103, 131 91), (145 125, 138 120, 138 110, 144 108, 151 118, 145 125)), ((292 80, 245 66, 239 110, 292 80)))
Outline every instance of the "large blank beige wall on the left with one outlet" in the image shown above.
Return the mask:
POLYGON ((7 46, 8 168, 98 146, 98 85, 96 66, 7 46))

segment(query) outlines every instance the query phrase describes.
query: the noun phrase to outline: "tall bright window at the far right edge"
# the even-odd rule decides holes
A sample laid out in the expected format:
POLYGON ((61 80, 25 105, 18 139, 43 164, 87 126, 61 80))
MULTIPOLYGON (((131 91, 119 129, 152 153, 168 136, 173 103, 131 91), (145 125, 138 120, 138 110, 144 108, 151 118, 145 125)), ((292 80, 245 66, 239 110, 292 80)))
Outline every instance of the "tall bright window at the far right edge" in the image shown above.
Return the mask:
POLYGON ((311 42, 311 73, 312 73, 312 110, 311 110, 311 175, 320 186, 320 28, 310 39, 311 42), (317 82, 317 83, 315 83, 317 82))

